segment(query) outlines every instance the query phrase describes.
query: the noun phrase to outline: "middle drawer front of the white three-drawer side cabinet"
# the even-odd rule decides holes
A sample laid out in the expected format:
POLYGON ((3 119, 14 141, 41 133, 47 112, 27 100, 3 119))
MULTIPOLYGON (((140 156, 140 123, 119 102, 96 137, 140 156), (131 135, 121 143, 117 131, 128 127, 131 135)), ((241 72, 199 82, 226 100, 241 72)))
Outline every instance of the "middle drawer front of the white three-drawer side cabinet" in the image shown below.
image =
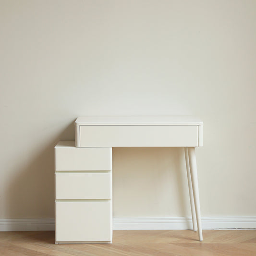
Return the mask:
POLYGON ((111 199, 111 172, 56 173, 56 199, 111 199))

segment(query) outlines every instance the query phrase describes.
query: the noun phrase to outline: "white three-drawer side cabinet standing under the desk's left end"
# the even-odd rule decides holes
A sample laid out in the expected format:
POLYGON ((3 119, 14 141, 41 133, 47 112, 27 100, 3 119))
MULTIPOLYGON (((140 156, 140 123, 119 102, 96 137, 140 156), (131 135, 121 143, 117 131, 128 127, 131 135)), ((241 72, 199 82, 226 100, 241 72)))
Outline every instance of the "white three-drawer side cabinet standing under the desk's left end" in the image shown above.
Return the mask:
POLYGON ((55 243, 112 243, 112 148, 55 146, 55 243))

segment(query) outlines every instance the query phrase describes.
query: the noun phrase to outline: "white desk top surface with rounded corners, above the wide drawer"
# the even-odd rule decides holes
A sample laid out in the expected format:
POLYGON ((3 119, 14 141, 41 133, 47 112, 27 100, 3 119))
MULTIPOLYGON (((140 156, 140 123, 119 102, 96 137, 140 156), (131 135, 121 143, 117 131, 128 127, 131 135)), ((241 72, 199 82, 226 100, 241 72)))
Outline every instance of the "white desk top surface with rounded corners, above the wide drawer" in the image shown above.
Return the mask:
POLYGON ((76 125, 203 125, 194 116, 82 116, 76 125))

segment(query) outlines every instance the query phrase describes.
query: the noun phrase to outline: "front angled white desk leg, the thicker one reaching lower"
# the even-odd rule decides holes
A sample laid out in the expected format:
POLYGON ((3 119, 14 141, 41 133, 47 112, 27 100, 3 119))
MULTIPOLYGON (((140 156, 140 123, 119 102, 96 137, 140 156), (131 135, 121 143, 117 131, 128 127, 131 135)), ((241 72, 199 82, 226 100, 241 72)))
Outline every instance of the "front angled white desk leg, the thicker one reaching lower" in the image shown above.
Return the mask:
POLYGON ((194 195, 194 201, 195 201, 195 215, 196 215, 196 221, 197 221, 198 236, 199 236, 199 241, 203 241, 200 203, 199 203, 199 190, 198 190, 198 180, 197 180, 197 169, 196 169, 196 158, 195 158, 195 147, 188 147, 188 158, 189 158, 193 195, 194 195))

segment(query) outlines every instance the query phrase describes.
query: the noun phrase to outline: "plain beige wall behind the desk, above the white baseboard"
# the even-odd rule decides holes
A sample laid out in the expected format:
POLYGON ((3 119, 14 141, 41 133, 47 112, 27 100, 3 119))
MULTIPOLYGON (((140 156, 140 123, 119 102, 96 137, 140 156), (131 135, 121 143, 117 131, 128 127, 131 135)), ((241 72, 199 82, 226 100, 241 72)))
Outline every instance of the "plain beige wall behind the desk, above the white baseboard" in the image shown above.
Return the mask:
MULTIPOLYGON (((256 216, 255 0, 0 0, 0 218, 54 217, 81 115, 196 115, 204 217, 256 216)), ((182 148, 114 148, 115 217, 189 216, 182 148)))

